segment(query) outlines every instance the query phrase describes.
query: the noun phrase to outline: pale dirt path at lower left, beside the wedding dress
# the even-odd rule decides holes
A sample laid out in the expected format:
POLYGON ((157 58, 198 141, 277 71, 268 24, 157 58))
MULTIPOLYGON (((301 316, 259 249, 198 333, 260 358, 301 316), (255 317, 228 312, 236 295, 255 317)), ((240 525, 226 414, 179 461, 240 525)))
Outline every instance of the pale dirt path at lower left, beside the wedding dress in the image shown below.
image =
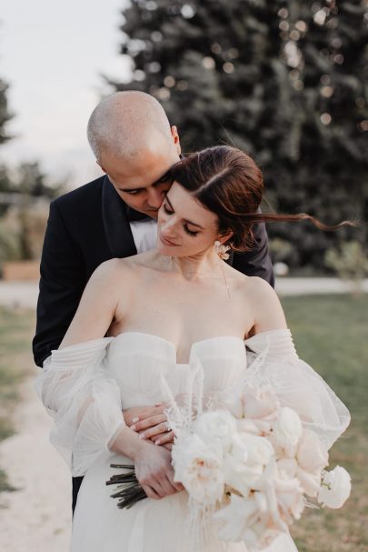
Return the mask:
POLYGON ((51 418, 25 381, 13 437, 0 445, 0 467, 15 492, 0 493, 2 552, 66 552, 71 527, 71 477, 49 443, 51 418))

